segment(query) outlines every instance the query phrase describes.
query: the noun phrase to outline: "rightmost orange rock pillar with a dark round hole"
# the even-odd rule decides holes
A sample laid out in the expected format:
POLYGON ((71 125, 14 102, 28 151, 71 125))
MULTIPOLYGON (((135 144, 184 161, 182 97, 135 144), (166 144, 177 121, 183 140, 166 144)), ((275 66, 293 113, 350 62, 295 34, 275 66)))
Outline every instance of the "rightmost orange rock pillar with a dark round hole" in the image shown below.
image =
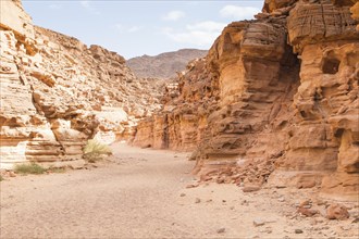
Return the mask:
POLYGON ((331 4, 299 4, 288 17, 289 41, 301 52, 301 71, 294 101, 297 126, 284 164, 287 169, 324 173, 322 191, 342 198, 355 198, 359 190, 356 24, 349 7, 331 4))

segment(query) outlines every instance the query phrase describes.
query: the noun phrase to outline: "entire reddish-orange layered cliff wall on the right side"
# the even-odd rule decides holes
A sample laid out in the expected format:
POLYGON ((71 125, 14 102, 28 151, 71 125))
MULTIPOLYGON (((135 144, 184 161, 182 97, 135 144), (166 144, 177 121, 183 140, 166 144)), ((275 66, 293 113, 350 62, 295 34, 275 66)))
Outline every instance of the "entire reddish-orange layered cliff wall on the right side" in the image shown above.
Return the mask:
POLYGON ((359 33, 352 1, 264 2, 178 77, 134 143, 195 150, 202 180, 359 193, 359 33), (351 12, 351 13, 350 13, 351 12), (144 137, 152 133, 153 137, 144 137))

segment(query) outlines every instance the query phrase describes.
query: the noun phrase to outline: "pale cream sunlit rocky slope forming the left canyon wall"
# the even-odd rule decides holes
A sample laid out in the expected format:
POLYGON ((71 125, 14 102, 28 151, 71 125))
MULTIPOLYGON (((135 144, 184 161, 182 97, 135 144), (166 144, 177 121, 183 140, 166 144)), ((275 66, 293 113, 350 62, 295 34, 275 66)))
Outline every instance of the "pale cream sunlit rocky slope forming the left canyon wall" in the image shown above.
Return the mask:
POLYGON ((78 166, 87 139, 131 138, 160 108, 157 81, 115 52, 33 26, 20 1, 1 1, 1 168, 78 166))

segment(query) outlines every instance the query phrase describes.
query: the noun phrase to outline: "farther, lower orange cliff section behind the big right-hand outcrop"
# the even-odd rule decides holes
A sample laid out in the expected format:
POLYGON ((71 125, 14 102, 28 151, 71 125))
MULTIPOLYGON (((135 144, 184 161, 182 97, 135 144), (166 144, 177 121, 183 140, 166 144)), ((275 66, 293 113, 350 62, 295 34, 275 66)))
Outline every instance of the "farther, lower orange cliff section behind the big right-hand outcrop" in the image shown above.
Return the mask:
POLYGON ((205 60, 187 66, 178 83, 166 86, 163 110, 139 122, 134 144, 156 149, 195 150, 205 137, 209 112, 216 108, 218 75, 205 60))

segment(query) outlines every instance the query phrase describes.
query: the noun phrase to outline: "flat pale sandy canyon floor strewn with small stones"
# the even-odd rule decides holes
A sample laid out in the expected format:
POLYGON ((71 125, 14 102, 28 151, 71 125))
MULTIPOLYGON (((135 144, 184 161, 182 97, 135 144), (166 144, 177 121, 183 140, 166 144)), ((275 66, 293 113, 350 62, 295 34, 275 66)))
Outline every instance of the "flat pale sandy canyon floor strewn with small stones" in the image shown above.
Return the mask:
POLYGON ((311 191, 186 188, 194 183, 188 153, 113 149, 113 162, 98 168, 1 181, 1 238, 359 237, 358 205, 342 222, 302 217, 296 205, 311 191))

